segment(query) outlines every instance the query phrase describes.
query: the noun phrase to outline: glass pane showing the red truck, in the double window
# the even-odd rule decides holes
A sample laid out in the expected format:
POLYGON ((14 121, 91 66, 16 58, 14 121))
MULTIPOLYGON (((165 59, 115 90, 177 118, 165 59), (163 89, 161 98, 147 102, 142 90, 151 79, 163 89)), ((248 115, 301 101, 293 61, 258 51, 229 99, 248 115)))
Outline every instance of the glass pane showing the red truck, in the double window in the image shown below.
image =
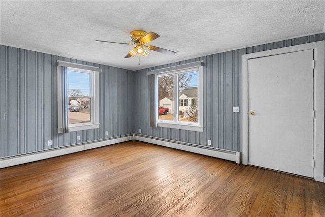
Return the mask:
POLYGON ((158 77, 158 119, 174 120, 174 76, 158 77))

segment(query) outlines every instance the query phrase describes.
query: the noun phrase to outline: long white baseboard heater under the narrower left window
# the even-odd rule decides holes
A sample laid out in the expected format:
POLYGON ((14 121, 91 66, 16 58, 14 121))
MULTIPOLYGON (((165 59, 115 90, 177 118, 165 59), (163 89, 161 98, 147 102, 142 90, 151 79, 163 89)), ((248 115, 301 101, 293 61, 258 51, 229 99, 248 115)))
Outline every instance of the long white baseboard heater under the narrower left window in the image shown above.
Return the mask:
POLYGON ((106 145, 112 145, 120 142, 130 141, 130 140, 133 140, 132 135, 124 135, 121 137, 113 137, 113 138, 96 141, 96 142, 80 143, 77 145, 64 146, 64 147, 58 147, 58 148, 53 148, 48 150, 24 153, 16 156, 11 156, 11 157, 5 157, 0 159, 0 168, 16 166, 19 164, 40 161, 48 158, 54 158, 65 154, 75 153, 75 152, 88 150, 92 148, 103 147, 106 145))

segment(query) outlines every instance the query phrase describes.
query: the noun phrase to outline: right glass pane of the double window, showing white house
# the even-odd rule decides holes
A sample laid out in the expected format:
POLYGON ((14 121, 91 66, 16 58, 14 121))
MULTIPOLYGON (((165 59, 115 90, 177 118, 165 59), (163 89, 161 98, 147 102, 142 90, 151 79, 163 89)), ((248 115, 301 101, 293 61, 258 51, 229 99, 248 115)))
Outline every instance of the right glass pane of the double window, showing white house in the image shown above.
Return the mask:
POLYGON ((178 74, 178 120, 198 122, 198 73, 178 74))

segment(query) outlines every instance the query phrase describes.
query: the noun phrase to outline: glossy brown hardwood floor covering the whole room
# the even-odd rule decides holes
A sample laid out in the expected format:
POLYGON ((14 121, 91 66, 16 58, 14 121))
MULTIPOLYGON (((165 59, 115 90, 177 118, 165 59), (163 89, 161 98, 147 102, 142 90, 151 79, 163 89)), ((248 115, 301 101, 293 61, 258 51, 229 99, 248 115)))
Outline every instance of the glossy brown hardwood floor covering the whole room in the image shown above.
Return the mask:
POLYGON ((325 216, 325 184, 130 141, 1 171, 1 216, 325 216))

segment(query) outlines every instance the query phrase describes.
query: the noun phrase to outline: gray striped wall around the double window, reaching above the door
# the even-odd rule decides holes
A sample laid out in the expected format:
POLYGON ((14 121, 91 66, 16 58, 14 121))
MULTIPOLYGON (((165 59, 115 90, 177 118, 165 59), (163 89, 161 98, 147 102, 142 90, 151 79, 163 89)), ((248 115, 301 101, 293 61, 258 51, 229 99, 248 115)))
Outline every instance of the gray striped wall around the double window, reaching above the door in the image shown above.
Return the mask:
POLYGON ((233 106, 242 105, 242 55, 325 40, 317 34, 264 45, 217 53, 200 58, 180 61, 136 72, 134 93, 137 115, 134 131, 148 136, 242 151, 242 113, 233 113, 233 106), (193 61, 204 61, 204 132, 170 128, 151 128, 149 125, 149 79, 147 72, 193 61))

